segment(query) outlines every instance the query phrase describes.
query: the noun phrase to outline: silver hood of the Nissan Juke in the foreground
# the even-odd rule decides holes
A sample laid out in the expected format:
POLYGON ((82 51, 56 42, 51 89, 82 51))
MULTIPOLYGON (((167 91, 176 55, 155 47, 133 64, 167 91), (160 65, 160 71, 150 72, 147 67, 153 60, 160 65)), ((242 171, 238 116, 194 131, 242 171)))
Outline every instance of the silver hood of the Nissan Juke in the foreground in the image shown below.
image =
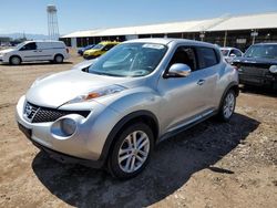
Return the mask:
POLYGON ((113 77, 66 71, 37 80, 27 92, 27 101, 39 106, 57 108, 79 95, 113 84, 131 87, 133 79, 113 77))

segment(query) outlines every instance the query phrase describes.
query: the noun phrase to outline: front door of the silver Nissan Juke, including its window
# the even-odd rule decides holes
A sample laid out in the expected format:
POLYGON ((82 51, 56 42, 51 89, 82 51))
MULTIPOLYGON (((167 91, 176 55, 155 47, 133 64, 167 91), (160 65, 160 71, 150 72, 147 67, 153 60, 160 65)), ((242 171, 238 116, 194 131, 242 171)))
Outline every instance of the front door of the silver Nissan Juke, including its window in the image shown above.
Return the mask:
POLYGON ((165 132, 197 121, 212 110, 209 101, 214 96, 216 70, 199 67, 197 54, 197 48, 179 46, 168 67, 174 63, 184 63, 192 69, 192 73, 186 77, 161 77, 158 81, 157 89, 163 97, 161 112, 165 121, 162 125, 165 132))

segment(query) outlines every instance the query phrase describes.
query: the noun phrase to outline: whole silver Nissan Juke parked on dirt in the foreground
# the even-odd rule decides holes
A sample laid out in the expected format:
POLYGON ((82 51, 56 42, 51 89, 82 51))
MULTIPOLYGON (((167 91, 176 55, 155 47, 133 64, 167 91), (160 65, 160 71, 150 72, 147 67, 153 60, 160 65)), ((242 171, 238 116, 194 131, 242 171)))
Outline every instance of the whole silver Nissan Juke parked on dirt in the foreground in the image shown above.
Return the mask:
POLYGON ((130 178, 158 142, 214 115, 228 122, 237 95, 237 71, 216 45, 138 39, 39 77, 19 100, 17 121, 55 159, 130 178))

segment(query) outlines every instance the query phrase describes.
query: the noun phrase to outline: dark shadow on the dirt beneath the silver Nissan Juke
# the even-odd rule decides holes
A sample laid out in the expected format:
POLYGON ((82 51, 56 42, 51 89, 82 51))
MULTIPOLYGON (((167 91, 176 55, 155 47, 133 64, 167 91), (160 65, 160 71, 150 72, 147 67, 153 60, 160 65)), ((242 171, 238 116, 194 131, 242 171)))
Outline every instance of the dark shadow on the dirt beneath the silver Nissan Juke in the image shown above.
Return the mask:
POLYGON ((254 132, 259 122, 234 114, 230 123, 208 119, 156 146, 148 166, 130 180, 117 180, 103 170, 60 164, 43 152, 32 168, 40 181, 64 202, 76 207, 145 207, 184 186, 202 169, 234 174, 214 165, 254 132))

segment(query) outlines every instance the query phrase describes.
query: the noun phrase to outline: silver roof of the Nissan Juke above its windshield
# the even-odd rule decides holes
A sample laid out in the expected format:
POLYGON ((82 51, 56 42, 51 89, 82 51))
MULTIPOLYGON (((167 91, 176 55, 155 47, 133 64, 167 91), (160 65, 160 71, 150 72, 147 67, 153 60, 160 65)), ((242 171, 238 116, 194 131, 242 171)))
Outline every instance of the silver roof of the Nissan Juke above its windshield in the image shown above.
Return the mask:
POLYGON ((212 43, 201 42, 201 41, 193 41, 193 40, 188 40, 188 39, 155 38, 155 39, 135 39, 135 40, 125 41, 125 42, 127 42, 127 43, 132 43, 132 42, 134 42, 134 43, 135 42, 137 42, 137 43, 157 43, 157 44, 170 44, 172 42, 175 42, 175 43, 194 43, 194 44, 202 44, 202 45, 206 45, 206 46, 216 48, 212 43))

